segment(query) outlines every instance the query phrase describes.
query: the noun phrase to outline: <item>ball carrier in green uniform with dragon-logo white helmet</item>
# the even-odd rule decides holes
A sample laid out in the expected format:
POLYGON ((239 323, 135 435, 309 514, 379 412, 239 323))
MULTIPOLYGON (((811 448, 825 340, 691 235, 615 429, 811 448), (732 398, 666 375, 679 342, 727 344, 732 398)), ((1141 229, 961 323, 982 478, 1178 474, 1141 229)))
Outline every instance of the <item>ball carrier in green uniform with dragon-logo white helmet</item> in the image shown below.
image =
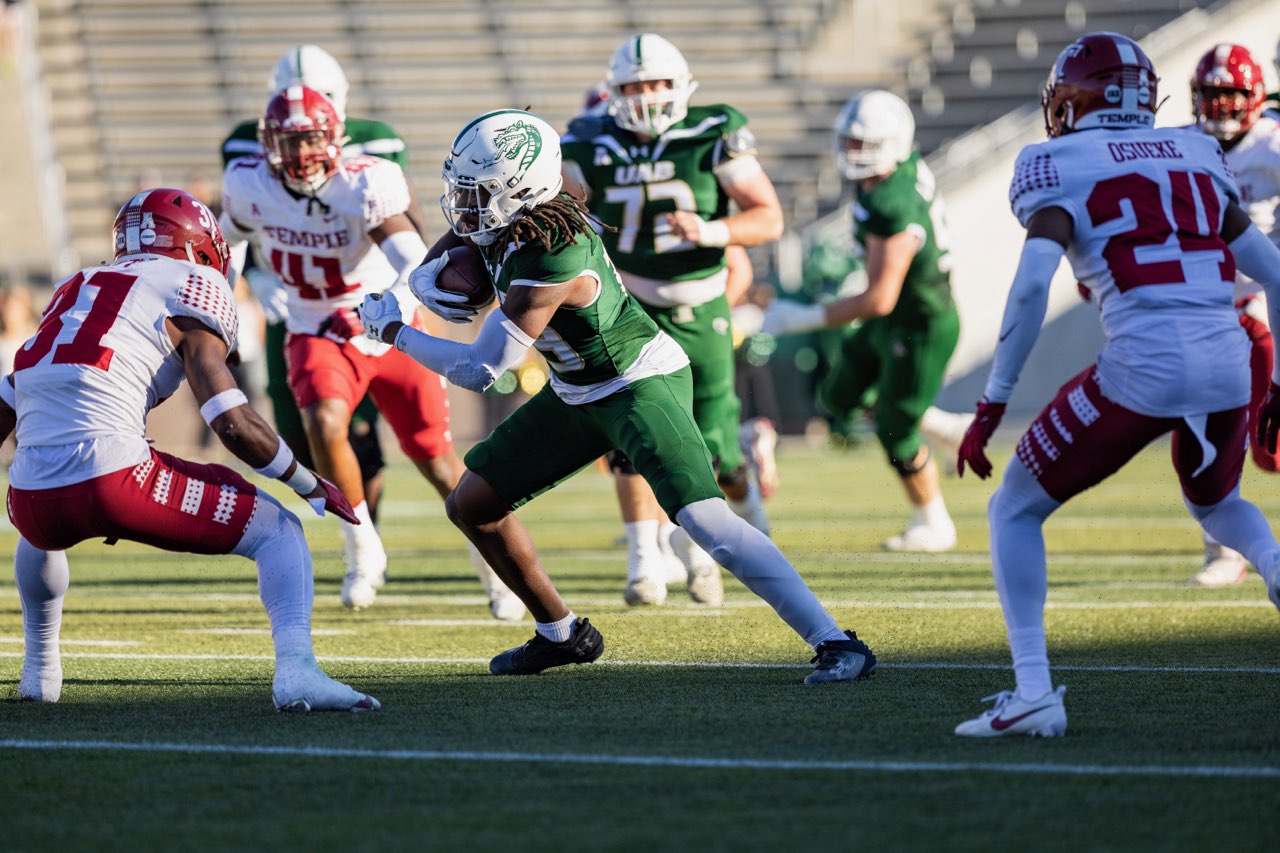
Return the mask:
POLYGON ((876 656, 836 620, 767 535, 724 503, 692 416, 689 356, 622 287, 581 201, 562 192, 556 131, 521 110, 472 119, 444 161, 440 205, 452 231, 410 288, 434 313, 470 321, 475 300, 436 279, 460 245, 480 250, 500 306, 470 345, 401 321, 396 296, 361 305, 369 337, 396 346, 449 382, 481 392, 534 346, 550 382, 466 455, 445 502, 449 519, 525 602, 536 634, 493 658, 495 675, 589 663, 600 633, 561 599, 513 511, 602 455, 621 450, 663 510, 815 649, 808 684, 872 674, 876 656), (468 304, 470 302, 470 304, 468 304))

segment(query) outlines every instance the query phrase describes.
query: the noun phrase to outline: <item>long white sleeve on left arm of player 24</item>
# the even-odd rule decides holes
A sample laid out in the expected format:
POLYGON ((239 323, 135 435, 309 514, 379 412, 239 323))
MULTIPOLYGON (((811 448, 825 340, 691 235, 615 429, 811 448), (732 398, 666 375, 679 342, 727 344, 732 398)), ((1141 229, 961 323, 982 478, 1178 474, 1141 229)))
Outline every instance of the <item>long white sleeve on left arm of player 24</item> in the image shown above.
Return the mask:
POLYGON ((983 396, 988 402, 1009 402, 1027 356, 1036 346, 1044 311, 1048 309, 1048 286, 1066 252, 1052 240, 1032 237, 1023 245, 1014 283, 1005 302, 1005 319, 1000 324, 996 357, 987 377, 983 396))

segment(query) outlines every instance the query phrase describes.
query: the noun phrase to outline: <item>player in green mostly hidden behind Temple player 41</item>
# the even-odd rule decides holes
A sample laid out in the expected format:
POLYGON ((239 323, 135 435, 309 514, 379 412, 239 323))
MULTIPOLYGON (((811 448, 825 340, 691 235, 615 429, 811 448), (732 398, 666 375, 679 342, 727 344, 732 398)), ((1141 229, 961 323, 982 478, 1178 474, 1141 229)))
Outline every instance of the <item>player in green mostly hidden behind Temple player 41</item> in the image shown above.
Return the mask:
MULTIPOLYGON (((268 88, 274 95, 291 82, 298 81, 308 86, 325 97, 338 109, 338 114, 346 117, 347 113, 347 76, 328 51, 315 45, 298 45, 280 56, 271 69, 271 78, 268 88)), ((401 169, 408 169, 408 152, 404 140, 384 122, 372 119, 346 118, 347 142, 343 152, 348 155, 367 154, 390 160, 401 169)), ((257 138, 257 119, 246 119, 236 126, 225 140, 223 140, 223 168, 232 160, 242 156, 262 152, 262 143, 257 138)), ((412 192, 412 186, 411 186, 412 192)), ((422 214, 416 200, 407 211, 410 220, 419 233, 426 236, 422 214)), ((275 418, 275 428, 285 442, 293 448, 298 459, 311 464, 311 448, 307 446, 306 433, 302 430, 302 415, 298 414, 293 393, 289 391, 288 368, 284 362, 284 284, 271 272, 269 264, 260 264, 252 259, 244 269, 244 279, 250 283, 253 295, 262 304, 266 314, 266 393, 271 400, 271 412, 275 418)), ((351 446, 360 460, 360 470, 365 480, 365 498, 369 502, 370 514, 378 517, 378 500, 383 492, 384 467, 383 448, 378 441, 378 409, 369 397, 361 401, 351 418, 351 446)))

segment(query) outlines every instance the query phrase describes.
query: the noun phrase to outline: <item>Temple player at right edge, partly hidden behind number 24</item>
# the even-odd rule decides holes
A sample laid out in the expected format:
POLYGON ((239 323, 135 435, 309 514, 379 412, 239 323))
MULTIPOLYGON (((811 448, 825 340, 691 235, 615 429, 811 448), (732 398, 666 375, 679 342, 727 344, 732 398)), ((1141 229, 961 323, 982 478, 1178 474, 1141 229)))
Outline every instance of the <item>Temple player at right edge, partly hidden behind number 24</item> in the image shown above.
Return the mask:
MULTIPOLYGON (((1280 225, 1276 223, 1276 207, 1280 205, 1280 122, 1274 115, 1263 114, 1265 102, 1262 67, 1240 45, 1215 45, 1196 65, 1192 74, 1196 127, 1221 143, 1226 165, 1240 187, 1240 206, 1262 233, 1280 245, 1280 225)), ((1275 356, 1266 307, 1258 298, 1261 292, 1256 282, 1236 272, 1235 307, 1252 345, 1249 411, 1254 420, 1267 393, 1275 356)), ((1251 442, 1249 451, 1254 465, 1263 471, 1280 470, 1280 459, 1258 442, 1251 442)), ((1249 565, 1244 556, 1204 533, 1204 564, 1192 576, 1192 583, 1226 587, 1244 583, 1248 576, 1249 565)))

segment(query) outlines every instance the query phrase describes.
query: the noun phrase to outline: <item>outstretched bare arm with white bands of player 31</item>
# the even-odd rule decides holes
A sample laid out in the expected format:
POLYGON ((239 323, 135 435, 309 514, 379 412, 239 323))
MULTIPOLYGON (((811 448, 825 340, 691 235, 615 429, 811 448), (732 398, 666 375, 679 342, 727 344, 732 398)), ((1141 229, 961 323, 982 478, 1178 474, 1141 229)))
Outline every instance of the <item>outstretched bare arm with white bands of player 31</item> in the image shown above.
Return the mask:
POLYGON ((298 464, 289 446, 275 434, 248 398, 236 386, 227 368, 227 343, 207 325, 193 318, 175 316, 165 321, 174 347, 182 355, 191 391, 200 414, 218 438, 237 459, 262 476, 278 479, 324 515, 360 524, 342 492, 324 478, 298 464))

